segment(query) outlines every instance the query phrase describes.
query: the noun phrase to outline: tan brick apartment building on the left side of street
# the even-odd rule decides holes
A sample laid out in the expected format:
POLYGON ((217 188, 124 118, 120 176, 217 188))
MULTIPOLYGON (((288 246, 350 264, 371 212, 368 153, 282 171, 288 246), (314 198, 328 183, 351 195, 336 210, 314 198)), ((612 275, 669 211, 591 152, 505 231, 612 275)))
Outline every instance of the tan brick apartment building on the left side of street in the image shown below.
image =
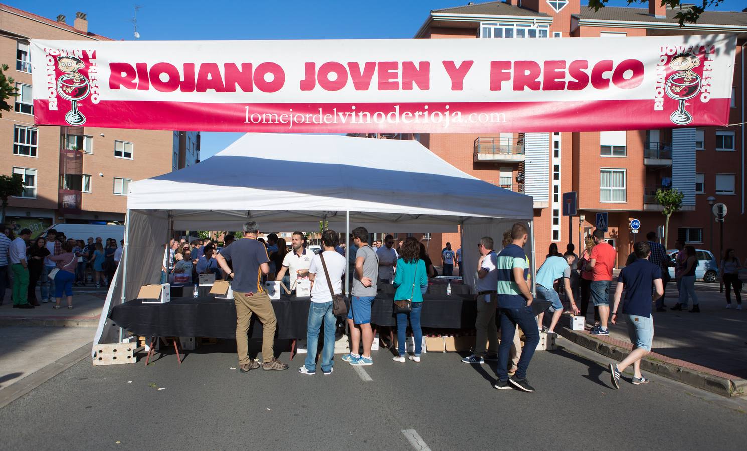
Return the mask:
MULTIPOLYGON (((20 96, 0 118, 0 174, 19 174, 6 223, 39 232, 54 223, 123 223, 131 181, 199 162, 199 132, 34 124, 29 39, 109 40, 88 31, 85 13, 72 25, 0 4, 0 61, 20 96)), ((81 101, 84 102, 84 101, 81 101)))

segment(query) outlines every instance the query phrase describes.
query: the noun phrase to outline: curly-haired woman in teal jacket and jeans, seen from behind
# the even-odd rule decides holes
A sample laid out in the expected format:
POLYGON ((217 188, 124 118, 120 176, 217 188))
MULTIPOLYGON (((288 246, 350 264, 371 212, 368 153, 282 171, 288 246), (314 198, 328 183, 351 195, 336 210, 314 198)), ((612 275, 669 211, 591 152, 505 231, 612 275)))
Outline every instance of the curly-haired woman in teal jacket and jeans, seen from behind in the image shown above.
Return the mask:
POLYGON ((415 363, 420 362, 421 346, 423 343, 423 331, 420 326, 421 309, 423 306, 423 294, 421 287, 428 286, 428 274, 425 262, 418 258, 420 255, 420 243, 415 237, 406 237, 400 247, 400 258, 397 259, 397 273, 394 275, 394 299, 412 299, 412 311, 409 314, 397 314, 397 346, 399 355, 392 360, 405 363, 405 331, 407 329, 407 317, 410 317, 410 327, 415 335, 415 355, 409 359, 415 363))

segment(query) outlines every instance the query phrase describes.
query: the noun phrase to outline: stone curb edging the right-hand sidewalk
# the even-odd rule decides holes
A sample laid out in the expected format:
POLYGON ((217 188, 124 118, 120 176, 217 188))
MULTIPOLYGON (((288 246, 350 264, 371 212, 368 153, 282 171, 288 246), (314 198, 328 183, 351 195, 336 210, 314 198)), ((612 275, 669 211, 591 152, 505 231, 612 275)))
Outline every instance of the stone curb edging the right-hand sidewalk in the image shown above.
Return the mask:
MULTIPOLYGON (((571 343, 576 343, 614 361, 622 361, 630 353, 629 349, 605 343, 604 341, 589 337, 586 334, 580 334, 565 327, 560 327, 560 335, 571 343)), ((558 343, 558 346, 562 346, 562 343, 558 343)), ((721 396, 747 395, 747 380, 745 379, 737 377, 727 379, 721 376, 714 376, 713 374, 702 373, 701 371, 691 370, 676 364, 668 364, 650 356, 641 360, 641 370, 721 396)))

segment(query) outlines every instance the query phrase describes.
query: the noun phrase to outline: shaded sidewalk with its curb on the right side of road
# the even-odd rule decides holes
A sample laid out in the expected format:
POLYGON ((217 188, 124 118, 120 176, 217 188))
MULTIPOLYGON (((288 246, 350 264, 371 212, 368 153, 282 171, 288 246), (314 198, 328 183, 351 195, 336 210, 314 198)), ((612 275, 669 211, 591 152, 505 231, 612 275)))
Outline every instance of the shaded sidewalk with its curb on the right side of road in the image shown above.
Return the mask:
MULTIPOLYGON (((642 368, 660 376, 676 379, 698 388, 723 394, 743 396, 747 390, 747 302, 746 310, 725 308, 725 294, 719 284, 696 283, 701 313, 671 311, 678 293, 674 282, 667 285, 666 312, 654 311, 654 346, 642 368), (740 394, 740 389, 742 393, 740 394)), ((610 289, 612 294, 615 284, 610 289)), ((747 299, 746 299, 747 300, 747 299)), ((613 305, 610 296, 610 307, 613 305)), ((692 299, 690 300, 692 305, 692 299)), ((622 310, 622 306, 619 308, 622 310)), ((592 322, 589 308, 587 322, 592 322)), ((567 326, 567 319, 562 321, 567 326)), ((564 338, 593 349, 613 359, 627 355, 631 349, 624 320, 610 324, 609 336, 590 335, 588 331, 558 330, 564 338)), ((562 340, 559 340, 562 345, 562 340)))

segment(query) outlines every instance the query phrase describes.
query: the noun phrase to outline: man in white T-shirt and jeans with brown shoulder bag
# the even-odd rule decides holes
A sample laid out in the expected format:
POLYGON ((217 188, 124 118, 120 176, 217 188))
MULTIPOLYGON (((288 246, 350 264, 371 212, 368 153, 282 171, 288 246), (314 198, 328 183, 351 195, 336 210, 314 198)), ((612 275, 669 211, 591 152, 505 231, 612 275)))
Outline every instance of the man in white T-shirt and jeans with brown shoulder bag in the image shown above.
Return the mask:
MULTIPOLYGON (((324 323, 324 347, 322 349, 322 372, 329 376, 335 370, 332 357, 335 355, 335 315, 347 314, 341 312, 344 305, 342 276, 347 269, 347 259, 335 251, 340 243, 336 231, 327 229, 322 234, 324 249, 311 258, 309 266, 309 280, 311 281, 311 305, 309 306, 309 321, 306 327, 306 341, 309 346, 306 362, 298 372, 313 375, 317 372, 317 343, 319 330, 324 323)), ((362 357, 361 357, 362 358, 362 357)), ((373 364, 371 358, 368 358, 373 364)))

